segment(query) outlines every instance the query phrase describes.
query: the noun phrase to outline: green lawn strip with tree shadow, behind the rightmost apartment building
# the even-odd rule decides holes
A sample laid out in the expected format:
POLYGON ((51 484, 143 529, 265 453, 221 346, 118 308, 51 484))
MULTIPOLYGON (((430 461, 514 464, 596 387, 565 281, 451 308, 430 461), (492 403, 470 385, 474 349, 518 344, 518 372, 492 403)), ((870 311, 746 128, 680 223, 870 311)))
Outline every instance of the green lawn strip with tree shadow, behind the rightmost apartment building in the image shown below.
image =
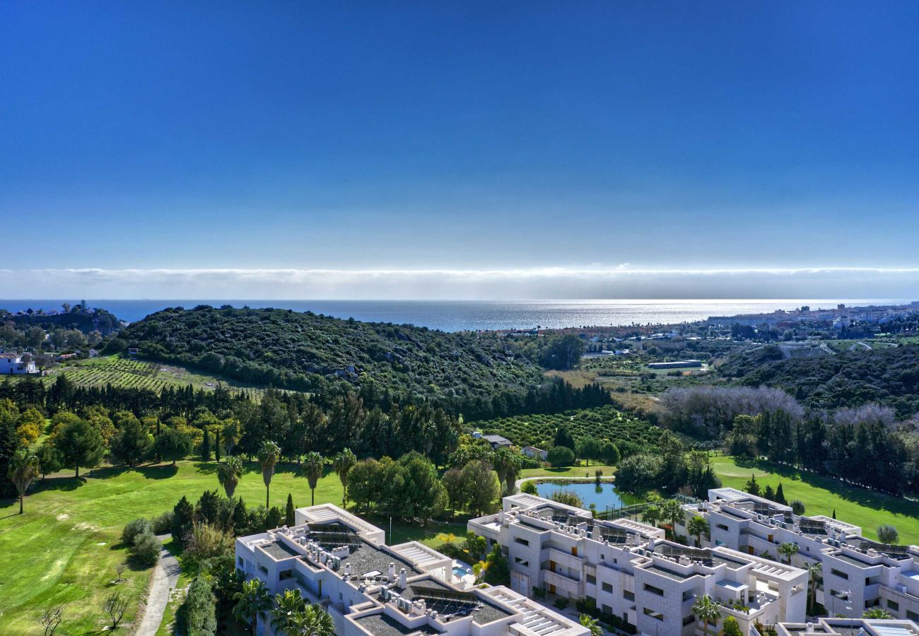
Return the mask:
POLYGON ((754 474, 760 488, 769 484, 775 489, 781 482, 785 498, 804 502, 806 515, 832 517, 835 510, 836 518, 860 526, 871 539, 877 539, 878 526, 889 523, 900 531, 901 543, 919 543, 919 504, 915 502, 768 461, 715 457, 712 465, 725 486, 743 490, 754 474))

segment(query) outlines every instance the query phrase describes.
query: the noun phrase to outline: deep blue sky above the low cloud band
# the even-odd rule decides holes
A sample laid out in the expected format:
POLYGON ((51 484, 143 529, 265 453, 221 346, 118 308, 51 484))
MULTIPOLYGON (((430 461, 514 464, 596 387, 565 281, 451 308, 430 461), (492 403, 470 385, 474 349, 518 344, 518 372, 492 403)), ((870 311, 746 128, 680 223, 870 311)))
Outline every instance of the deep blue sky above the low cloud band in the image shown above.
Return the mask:
POLYGON ((7 4, 0 220, 41 246, 0 288, 917 267, 916 24, 914 2, 7 4))

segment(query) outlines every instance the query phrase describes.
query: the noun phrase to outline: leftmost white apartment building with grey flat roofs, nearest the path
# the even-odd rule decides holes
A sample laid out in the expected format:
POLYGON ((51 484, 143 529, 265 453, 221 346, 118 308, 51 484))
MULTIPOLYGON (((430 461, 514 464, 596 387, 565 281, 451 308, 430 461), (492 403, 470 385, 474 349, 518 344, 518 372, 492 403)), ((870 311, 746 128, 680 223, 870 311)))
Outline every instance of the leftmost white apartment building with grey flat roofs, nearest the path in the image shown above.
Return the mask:
MULTIPOLYGON (((236 539, 236 567, 272 595, 299 589, 337 636, 589 636, 579 623, 503 585, 465 585, 449 557, 385 533, 335 505, 296 511, 297 525, 236 539)), ((258 633, 270 636, 270 620, 258 633)))

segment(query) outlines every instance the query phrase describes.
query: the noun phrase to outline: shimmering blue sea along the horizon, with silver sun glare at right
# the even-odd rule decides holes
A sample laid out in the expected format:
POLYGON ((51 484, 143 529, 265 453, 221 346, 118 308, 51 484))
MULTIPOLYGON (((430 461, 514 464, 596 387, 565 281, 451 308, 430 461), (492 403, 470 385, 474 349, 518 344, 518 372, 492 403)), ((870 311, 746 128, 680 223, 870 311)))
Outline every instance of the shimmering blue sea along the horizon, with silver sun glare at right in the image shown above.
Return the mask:
MULTIPOLYGON (((837 304, 892 305, 913 299, 761 299, 761 300, 586 300, 586 301, 280 301, 280 300, 94 300, 121 320, 133 323, 166 307, 233 305, 233 307, 275 307, 294 312, 323 313, 336 318, 365 322, 415 324, 441 331, 497 329, 561 329, 564 327, 624 326, 630 324, 680 324, 705 320, 709 316, 794 310, 803 305, 829 309, 837 304)), ((0 300, 9 312, 27 309, 61 309, 70 300, 0 300)))

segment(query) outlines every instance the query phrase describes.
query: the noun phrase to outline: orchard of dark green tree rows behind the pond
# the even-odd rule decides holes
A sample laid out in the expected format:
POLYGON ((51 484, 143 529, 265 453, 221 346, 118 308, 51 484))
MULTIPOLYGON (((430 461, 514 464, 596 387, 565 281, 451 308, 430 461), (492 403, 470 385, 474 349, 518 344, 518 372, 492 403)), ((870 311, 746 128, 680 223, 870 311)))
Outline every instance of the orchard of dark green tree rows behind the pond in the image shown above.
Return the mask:
POLYGON ((654 448, 661 435, 657 426, 613 406, 553 415, 516 415, 476 422, 475 426, 486 435, 503 435, 517 446, 548 449, 555 431, 563 424, 568 426, 575 440, 583 437, 608 439, 616 444, 623 456, 654 448))

